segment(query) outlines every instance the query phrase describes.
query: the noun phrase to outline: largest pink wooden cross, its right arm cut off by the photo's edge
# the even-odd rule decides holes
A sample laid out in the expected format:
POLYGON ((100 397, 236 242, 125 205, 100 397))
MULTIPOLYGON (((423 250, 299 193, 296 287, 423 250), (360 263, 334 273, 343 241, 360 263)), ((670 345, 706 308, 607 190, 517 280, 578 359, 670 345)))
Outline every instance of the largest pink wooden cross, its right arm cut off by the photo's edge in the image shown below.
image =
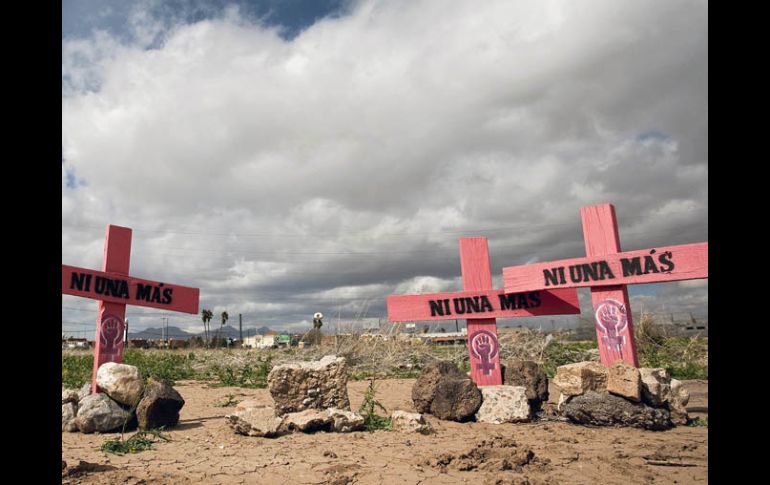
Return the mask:
POLYGON ((505 292, 590 287, 602 363, 638 367, 626 285, 708 278, 708 243, 621 252, 615 207, 583 207, 580 216, 586 257, 503 268, 505 292))

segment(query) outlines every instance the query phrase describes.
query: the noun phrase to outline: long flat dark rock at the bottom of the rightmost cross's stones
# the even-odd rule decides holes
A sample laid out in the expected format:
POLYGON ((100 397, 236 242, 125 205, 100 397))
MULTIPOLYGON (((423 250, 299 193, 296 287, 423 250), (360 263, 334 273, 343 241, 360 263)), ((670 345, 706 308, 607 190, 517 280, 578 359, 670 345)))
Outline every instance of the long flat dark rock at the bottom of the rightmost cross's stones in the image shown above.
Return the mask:
POLYGON ((632 403, 604 392, 587 391, 563 406, 564 415, 572 422, 593 426, 632 426, 649 430, 671 427, 668 410, 632 403))

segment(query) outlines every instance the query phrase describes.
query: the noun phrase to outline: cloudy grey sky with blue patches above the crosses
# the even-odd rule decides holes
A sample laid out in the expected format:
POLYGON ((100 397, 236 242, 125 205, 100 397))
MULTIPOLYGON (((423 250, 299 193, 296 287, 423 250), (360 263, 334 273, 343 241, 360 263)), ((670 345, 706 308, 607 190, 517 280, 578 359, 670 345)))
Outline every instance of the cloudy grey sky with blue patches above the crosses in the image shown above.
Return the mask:
MULTIPOLYGON (((501 287, 585 255, 586 205, 615 205, 624 250, 708 241, 705 1, 64 0, 62 21, 62 262, 100 269, 105 226, 131 227, 133 276, 230 323, 384 322, 387 295, 461 288, 463 236, 501 287)), ((708 317, 707 280, 629 291, 708 317)), ((62 332, 91 337, 96 307, 63 296, 62 332)))

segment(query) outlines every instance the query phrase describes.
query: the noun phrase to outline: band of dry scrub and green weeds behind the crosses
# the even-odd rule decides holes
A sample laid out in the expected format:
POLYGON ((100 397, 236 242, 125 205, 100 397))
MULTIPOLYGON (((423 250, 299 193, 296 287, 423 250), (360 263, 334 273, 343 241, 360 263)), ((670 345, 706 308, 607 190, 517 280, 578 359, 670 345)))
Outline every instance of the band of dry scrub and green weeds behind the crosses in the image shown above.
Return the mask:
MULTIPOLYGON (((708 379, 708 338, 668 337, 653 323, 640 319, 637 328, 639 364, 663 367, 676 379, 708 379)), ((526 328, 501 331, 500 359, 534 360, 553 377, 560 365, 599 360, 595 341, 564 341, 553 334, 526 328)), ((348 378, 416 378, 423 366, 448 360, 463 372, 470 370, 466 345, 427 345, 408 338, 340 337, 333 345, 282 349, 128 349, 123 361, 139 367, 145 377, 172 382, 191 379, 214 385, 264 388, 274 364, 318 360, 324 355, 345 357, 348 378)), ((90 382, 93 353, 86 350, 62 352, 62 384, 78 388, 90 382)))

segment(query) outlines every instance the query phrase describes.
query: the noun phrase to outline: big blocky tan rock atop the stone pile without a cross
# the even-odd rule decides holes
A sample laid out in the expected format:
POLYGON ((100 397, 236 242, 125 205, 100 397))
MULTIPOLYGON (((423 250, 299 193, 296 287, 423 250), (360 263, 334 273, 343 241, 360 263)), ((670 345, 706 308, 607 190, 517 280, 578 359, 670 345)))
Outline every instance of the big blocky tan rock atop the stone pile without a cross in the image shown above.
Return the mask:
POLYGON ((268 374, 267 385, 277 416, 305 409, 350 409, 343 357, 277 365, 268 374))

